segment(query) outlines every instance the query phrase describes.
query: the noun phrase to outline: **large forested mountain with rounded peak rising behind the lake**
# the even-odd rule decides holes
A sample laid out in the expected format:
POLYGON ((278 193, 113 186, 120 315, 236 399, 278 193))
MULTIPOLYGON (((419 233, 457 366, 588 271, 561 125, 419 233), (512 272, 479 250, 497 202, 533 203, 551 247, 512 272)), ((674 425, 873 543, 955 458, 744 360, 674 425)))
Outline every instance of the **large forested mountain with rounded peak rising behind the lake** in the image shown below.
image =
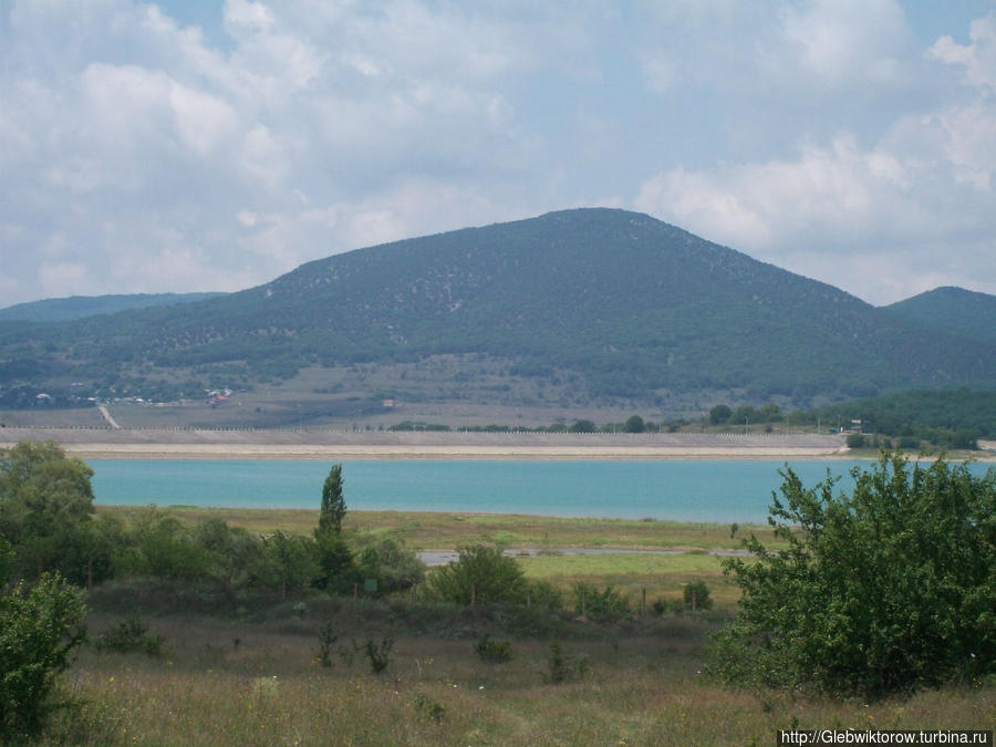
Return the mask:
POLYGON ((197 303, 0 324, 9 387, 259 387, 359 365, 371 387, 402 398, 471 400, 486 396, 486 380, 496 393, 528 380, 516 395, 527 405, 996 386, 994 343, 923 329, 649 216, 601 208, 359 249, 197 303), (428 361, 445 362, 449 378, 416 393, 409 378, 428 361))

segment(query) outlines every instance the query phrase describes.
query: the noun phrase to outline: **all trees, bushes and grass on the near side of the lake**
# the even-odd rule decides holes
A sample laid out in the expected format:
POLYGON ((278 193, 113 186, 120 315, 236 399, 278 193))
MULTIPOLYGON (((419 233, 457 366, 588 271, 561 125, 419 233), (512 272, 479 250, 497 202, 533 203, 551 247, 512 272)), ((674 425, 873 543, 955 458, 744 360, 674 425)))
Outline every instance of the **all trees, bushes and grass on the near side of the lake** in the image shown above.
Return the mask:
POLYGON ((309 519, 295 533, 258 511, 93 519, 89 468, 21 445, 0 459, 0 570, 29 582, 0 600, 0 652, 18 652, 0 656, 2 735, 685 745, 770 744, 779 728, 992 728, 996 475, 910 470, 893 455, 852 497, 785 477, 767 529, 442 513, 423 526, 345 512, 333 467, 320 510, 288 515, 309 519), (250 531, 228 523, 238 517, 276 523, 250 531), (432 547, 436 529, 459 557, 426 573, 406 540, 432 547), (540 533, 540 556, 494 546, 540 533), (753 557, 702 551, 745 535, 753 557), (557 550, 600 539, 685 551, 557 550), (52 574, 82 574, 81 560, 82 645, 82 592, 52 574))

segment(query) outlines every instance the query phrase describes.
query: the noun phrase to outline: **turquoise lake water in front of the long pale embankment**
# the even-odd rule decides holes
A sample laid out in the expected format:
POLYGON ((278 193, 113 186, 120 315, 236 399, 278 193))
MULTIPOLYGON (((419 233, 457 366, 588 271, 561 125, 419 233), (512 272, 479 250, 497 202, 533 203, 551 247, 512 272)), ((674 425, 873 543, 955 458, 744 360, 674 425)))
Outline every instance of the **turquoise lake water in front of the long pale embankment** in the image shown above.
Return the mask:
MULTIPOLYGON (((90 459, 95 502, 313 508, 330 463, 90 459)), ((865 466, 868 463, 864 463, 865 466)), ((784 461, 342 461, 354 510, 467 511, 675 521, 764 522, 784 461)), ((792 461, 807 487, 853 481, 848 461, 792 461)), ((985 465, 972 465, 983 475, 985 465)))

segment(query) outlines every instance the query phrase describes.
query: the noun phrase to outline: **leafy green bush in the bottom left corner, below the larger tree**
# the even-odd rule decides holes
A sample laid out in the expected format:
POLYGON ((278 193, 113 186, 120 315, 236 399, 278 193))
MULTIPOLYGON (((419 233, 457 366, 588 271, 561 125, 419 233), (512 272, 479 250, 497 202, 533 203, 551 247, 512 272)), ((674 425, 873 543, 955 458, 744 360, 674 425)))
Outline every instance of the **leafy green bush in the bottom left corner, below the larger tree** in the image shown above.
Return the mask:
POLYGON ((43 573, 0 592, 0 741, 35 736, 58 704, 51 695, 84 637, 83 592, 43 573))

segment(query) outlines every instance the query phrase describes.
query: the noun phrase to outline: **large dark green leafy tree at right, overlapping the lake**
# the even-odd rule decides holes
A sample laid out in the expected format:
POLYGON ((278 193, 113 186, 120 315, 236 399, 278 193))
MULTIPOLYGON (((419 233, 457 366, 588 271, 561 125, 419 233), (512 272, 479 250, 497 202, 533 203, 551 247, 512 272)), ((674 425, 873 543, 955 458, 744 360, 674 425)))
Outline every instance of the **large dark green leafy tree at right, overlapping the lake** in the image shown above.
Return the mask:
POLYGON ((882 696, 996 672, 996 471, 899 454, 803 488, 789 469, 768 522, 788 544, 724 561, 743 590, 710 667, 729 681, 882 696))

